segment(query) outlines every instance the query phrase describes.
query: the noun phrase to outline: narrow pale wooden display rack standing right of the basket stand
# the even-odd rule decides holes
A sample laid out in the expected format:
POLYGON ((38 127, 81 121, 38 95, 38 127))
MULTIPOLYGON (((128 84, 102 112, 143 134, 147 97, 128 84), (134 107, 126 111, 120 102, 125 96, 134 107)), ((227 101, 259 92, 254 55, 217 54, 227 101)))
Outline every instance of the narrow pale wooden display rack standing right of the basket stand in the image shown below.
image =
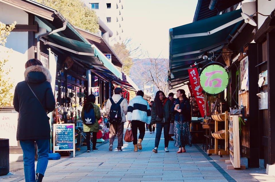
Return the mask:
POLYGON ((240 144, 239 144, 239 115, 229 116, 229 157, 225 163, 231 163, 227 169, 245 169, 245 165, 241 165, 240 144))

